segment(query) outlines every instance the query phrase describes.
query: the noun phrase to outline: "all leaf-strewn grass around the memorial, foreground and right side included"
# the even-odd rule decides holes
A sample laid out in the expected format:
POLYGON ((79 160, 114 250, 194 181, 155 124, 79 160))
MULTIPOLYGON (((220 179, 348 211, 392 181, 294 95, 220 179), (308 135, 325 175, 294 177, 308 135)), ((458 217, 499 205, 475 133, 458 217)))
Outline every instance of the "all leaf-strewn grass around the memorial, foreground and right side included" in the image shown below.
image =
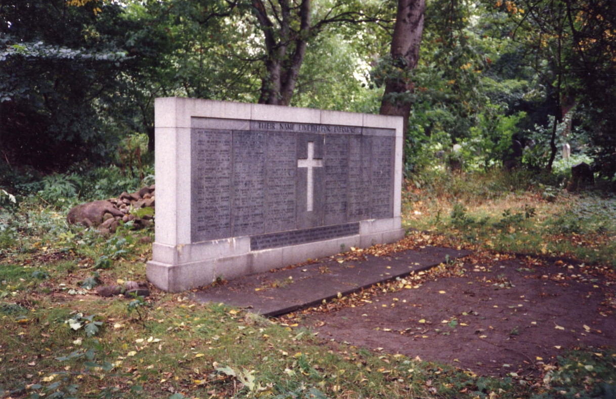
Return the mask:
MULTIPOLYGON (((424 179, 434 183, 405 191, 403 219, 428 231, 426 241, 448 235, 469 248, 616 259, 613 199, 548 196, 515 174, 424 179)), ((84 280, 144 280, 153 232, 102 237, 67 226, 65 211, 36 199, 22 200, 15 217, 0 210, 0 397, 590 398, 614 390, 613 350, 571 352, 537 381, 495 379, 324 342, 292 323, 193 303, 190 293, 100 298, 84 280)))

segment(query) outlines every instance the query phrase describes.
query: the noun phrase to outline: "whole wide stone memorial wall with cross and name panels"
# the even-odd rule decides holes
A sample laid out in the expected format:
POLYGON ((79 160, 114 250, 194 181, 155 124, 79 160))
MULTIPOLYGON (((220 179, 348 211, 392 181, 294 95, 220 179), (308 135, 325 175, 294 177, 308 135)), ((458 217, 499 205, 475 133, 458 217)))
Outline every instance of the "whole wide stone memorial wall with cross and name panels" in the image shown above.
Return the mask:
POLYGON ((155 135, 163 290, 404 235, 401 117, 157 98, 155 135))

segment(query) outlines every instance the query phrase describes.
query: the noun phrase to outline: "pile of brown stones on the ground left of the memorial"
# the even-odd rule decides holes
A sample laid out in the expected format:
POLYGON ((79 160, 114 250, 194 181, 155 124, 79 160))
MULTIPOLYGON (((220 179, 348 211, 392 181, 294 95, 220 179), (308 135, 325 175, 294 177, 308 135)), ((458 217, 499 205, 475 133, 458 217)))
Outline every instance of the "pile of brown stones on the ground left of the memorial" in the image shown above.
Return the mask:
POLYGON ((155 185, 144 187, 118 198, 86 202, 68 211, 67 222, 95 226, 101 233, 115 232, 121 222, 132 221, 134 229, 150 226, 155 209, 155 185), (140 210, 147 208, 145 211, 140 210), (140 210, 140 211, 139 211, 140 210))

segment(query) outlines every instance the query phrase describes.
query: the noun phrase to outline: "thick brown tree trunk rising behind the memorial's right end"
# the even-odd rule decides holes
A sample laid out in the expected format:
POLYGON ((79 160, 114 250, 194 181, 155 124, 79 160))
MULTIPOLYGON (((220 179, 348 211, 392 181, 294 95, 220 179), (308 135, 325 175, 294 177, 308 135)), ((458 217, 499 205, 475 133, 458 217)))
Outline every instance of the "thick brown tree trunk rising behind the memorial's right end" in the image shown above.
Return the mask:
MULTIPOLYGON (((398 10, 391 41, 391 58, 400 69, 411 70, 419 60, 419 45, 423 33, 424 11, 426 0, 398 0, 398 10)), ((395 98, 397 93, 412 93, 413 82, 403 77, 389 79, 381 100, 382 115, 402 116, 404 119, 404 134, 408 127, 408 117, 411 112, 410 101, 395 98)))

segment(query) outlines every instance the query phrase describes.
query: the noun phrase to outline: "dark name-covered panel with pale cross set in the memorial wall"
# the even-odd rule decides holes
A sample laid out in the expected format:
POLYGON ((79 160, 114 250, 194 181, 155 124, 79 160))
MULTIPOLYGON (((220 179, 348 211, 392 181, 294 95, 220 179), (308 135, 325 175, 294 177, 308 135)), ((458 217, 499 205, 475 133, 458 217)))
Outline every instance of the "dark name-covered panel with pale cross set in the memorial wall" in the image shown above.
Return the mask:
POLYGON ((394 137, 362 133, 260 121, 193 128, 192 241, 391 218, 394 137))

